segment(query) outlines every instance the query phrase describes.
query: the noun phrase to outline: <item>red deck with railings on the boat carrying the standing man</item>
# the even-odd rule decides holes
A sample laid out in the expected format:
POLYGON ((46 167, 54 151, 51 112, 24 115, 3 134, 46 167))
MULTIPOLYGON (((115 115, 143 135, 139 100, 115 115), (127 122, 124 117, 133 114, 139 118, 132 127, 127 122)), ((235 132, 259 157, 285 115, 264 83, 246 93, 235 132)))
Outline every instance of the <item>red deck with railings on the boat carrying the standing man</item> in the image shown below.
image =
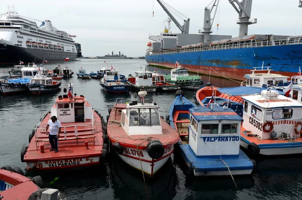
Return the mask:
POLYGON ((32 138, 27 152, 24 156, 25 162, 43 161, 43 160, 56 160, 56 159, 71 159, 71 158, 85 158, 91 156, 101 156, 103 149, 103 130, 101 118, 94 112, 94 128, 92 129, 91 120, 87 122, 75 122, 75 123, 61 123, 61 133, 59 136, 58 147, 59 151, 49 151, 51 148, 48 135, 45 133, 45 128, 48 120, 50 119, 48 114, 41 122, 39 129, 37 130, 38 142, 36 142, 36 135, 32 138), (86 126, 85 126, 86 125, 86 126), (87 126, 90 125, 90 126, 87 126), (72 126, 72 127, 67 127, 72 126), (77 136, 75 136, 75 127, 77 126, 77 136), (79 127, 78 127, 79 126, 79 127), (64 127, 66 130, 66 140, 64 137, 64 127), (93 134, 94 130, 94 134, 93 134), (88 146, 91 149, 85 148, 85 142, 88 142, 88 146), (41 145, 44 145, 44 153, 41 153, 41 145))

